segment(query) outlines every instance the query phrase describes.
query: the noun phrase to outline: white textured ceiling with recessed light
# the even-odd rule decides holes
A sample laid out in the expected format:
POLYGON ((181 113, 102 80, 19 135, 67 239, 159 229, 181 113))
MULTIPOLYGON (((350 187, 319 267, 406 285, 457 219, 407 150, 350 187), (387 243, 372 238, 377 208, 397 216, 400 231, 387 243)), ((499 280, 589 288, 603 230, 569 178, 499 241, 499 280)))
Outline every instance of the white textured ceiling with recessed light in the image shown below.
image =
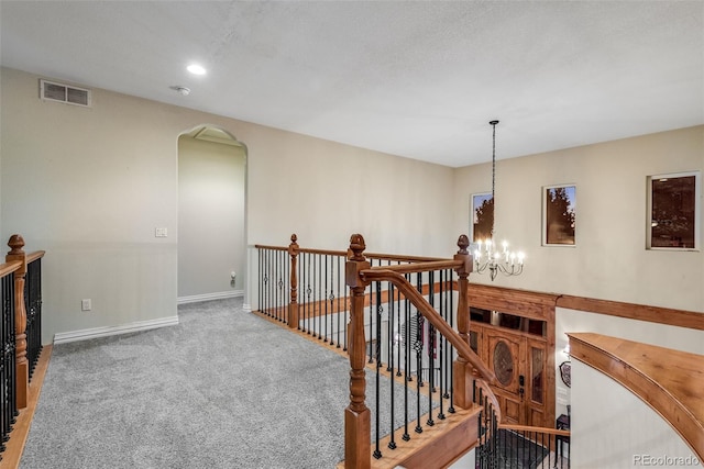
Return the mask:
POLYGON ((491 160, 492 119, 499 159, 704 123, 703 1, 2 0, 0 16, 3 66, 452 167, 491 160))

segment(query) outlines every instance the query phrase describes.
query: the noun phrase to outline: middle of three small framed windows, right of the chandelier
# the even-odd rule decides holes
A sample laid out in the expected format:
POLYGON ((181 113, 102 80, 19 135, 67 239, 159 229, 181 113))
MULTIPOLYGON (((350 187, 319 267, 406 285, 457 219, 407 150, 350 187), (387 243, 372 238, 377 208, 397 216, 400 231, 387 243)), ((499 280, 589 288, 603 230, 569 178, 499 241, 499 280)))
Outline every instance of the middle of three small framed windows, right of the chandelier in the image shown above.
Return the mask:
POLYGON ((542 245, 576 244, 576 186, 542 188, 542 245))

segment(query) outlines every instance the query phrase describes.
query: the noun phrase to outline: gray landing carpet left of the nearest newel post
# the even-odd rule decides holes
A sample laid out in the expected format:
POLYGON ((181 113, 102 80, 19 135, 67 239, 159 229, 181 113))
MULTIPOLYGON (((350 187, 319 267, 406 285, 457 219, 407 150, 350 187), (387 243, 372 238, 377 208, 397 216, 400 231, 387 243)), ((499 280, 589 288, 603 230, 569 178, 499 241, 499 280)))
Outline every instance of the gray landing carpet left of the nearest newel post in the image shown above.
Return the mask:
POLYGON ((244 313, 54 347, 20 464, 34 468, 332 468, 349 361, 244 313))

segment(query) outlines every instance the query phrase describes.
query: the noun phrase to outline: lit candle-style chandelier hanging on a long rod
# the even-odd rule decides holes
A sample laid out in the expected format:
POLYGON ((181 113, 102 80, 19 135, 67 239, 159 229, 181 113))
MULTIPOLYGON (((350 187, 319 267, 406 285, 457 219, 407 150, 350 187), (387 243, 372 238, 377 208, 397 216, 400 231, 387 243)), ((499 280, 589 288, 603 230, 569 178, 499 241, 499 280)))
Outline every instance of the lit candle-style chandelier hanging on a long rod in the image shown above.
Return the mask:
MULTIPOLYGON (((493 127, 493 147, 492 147, 492 204, 496 208, 494 201, 495 181, 496 181, 496 124, 498 121, 491 121, 493 127)), ((487 239, 480 239, 474 250, 474 271, 483 273, 488 269, 492 281, 498 272, 505 276, 519 276, 524 271, 524 254, 508 250, 508 242, 504 241, 501 246, 494 243, 494 217, 492 216, 492 231, 487 239)))

